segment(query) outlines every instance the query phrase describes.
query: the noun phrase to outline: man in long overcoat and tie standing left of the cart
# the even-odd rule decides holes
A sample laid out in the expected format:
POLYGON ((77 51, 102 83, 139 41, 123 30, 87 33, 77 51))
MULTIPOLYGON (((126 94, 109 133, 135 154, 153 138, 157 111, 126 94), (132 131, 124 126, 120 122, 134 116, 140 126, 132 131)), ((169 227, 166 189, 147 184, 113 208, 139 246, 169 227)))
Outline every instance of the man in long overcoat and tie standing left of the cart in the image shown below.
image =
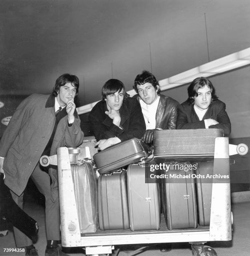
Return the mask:
MULTIPOLYGON (((57 169, 41 169, 42 155, 54 155, 58 147, 77 147, 83 141, 74 97, 79 88, 75 75, 56 79, 51 95, 32 94, 20 103, 0 141, 0 172, 13 200, 23 208, 23 191, 31 177, 45 196, 47 246, 45 256, 65 255, 60 244, 60 215, 57 169), (52 184, 51 184, 52 181, 52 184)), ((14 228, 17 247, 26 247, 26 256, 37 250, 20 230, 14 228)))

